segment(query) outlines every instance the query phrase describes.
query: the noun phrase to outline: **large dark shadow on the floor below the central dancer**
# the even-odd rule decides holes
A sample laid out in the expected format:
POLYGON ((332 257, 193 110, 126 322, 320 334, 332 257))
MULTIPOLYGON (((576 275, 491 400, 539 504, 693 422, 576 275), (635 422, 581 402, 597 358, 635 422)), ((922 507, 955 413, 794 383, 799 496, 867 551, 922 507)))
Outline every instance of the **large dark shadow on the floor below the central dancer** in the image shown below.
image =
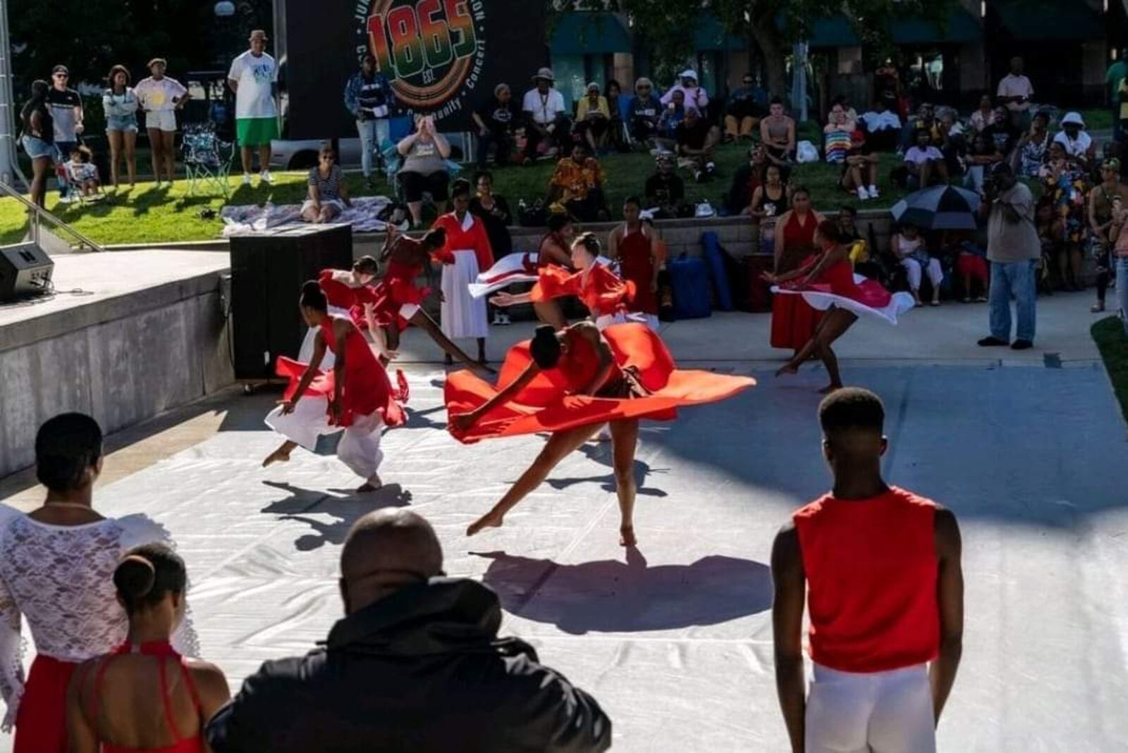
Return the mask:
POLYGON ((626 562, 580 565, 474 553, 493 560, 482 579, 506 611, 571 634, 717 624, 772 606, 770 570, 750 559, 711 555, 693 565, 647 567, 635 547, 626 562))

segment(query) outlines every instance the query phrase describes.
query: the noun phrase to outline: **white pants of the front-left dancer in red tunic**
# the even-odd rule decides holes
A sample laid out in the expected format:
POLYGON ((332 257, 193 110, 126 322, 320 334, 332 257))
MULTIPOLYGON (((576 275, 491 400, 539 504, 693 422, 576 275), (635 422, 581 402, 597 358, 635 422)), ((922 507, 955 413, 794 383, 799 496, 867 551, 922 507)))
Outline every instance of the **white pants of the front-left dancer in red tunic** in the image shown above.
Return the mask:
MULTIPOLYGON (((331 426, 327 414, 328 400, 324 397, 306 397, 298 400, 293 413, 282 415, 282 406, 266 414, 266 425, 275 432, 312 452, 317 448, 317 437, 323 434, 335 434, 340 426, 331 426)), ((373 481, 384 452, 380 450, 380 433, 384 419, 380 414, 353 416, 353 424, 344 429, 344 435, 337 444, 337 459, 349 470, 361 478, 373 481)))

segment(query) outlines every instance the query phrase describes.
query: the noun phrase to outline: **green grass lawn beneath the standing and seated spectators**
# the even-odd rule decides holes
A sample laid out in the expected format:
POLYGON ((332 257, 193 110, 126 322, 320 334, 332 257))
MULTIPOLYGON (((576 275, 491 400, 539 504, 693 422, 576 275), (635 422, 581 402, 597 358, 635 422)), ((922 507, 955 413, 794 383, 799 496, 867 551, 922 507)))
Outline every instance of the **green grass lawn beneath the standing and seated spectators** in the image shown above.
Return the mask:
MULTIPOLYGON (((801 136, 808 134, 801 133, 801 136)), ((739 168, 747 156, 747 147, 730 144, 717 152, 717 176, 708 183, 697 184, 682 171, 686 181, 687 200, 694 203, 710 201, 720 207, 729 189, 732 174, 739 168)), ((832 211, 840 204, 874 209, 888 209, 904 195, 904 192, 888 183, 888 174, 893 165, 892 154, 883 156, 879 172, 879 188, 882 197, 878 201, 858 202, 856 196, 847 195, 838 187, 841 168, 837 165, 814 162, 800 165, 793 171, 792 180, 796 185, 807 186, 814 197, 819 210, 832 211)), ((631 194, 641 194, 646 178, 654 171, 654 160, 645 152, 631 154, 609 154, 602 158, 607 171, 607 197, 613 216, 622 214, 623 200, 631 194)), ((545 195, 548 179, 553 172, 553 162, 545 161, 530 167, 509 167, 494 170, 495 189, 505 196, 513 211, 520 198, 535 201, 545 195)), ((464 169, 464 176, 470 177, 473 168, 464 169)), ((241 175, 230 178, 232 204, 296 204, 306 195, 305 172, 275 172, 275 185, 259 186, 256 176, 250 187, 243 185, 241 175)), ((347 176, 349 188, 353 196, 368 194, 389 195, 389 187, 382 181, 373 189, 368 189, 359 174, 347 176)), ((51 181, 53 184, 53 181, 51 181)), ((53 185, 47 191, 47 210, 92 240, 104 243, 160 243, 185 240, 208 240, 217 238, 222 229, 219 218, 204 220, 200 213, 205 209, 217 212, 224 201, 214 188, 204 195, 188 196, 187 181, 178 180, 173 188, 157 188, 152 183, 139 183, 132 191, 127 187, 114 193, 108 189, 109 198, 104 202, 80 205, 59 204, 58 192, 53 185)), ((0 200, 0 242, 16 242, 26 229, 26 216, 23 207, 10 198, 0 200)))

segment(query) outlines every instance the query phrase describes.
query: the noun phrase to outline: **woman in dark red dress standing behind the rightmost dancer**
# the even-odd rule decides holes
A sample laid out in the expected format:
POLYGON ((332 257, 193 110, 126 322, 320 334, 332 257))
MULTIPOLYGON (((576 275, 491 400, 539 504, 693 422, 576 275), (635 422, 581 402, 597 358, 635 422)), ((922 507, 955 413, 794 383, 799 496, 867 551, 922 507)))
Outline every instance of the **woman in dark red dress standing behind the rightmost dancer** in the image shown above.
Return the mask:
MULTIPOLYGON (((774 274, 788 274, 814 255, 814 229, 823 216, 811 209, 811 194, 799 187, 791 195, 792 209, 776 222, 774 274)), ((796 295, 772 301, 772 347, 790 347, 795 353, 810 342, 820 315, 796 295)))

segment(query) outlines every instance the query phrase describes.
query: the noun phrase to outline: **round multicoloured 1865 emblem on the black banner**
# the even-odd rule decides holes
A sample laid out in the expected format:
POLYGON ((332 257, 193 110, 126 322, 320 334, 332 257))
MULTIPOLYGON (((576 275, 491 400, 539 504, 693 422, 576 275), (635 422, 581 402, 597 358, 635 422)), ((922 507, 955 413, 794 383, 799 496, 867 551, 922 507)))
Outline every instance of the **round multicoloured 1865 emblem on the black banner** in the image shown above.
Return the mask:
POLYGON ((478 86, 485 0, 358 0, 359 53, 371 52, 407 107, 444 117, 478 86))

